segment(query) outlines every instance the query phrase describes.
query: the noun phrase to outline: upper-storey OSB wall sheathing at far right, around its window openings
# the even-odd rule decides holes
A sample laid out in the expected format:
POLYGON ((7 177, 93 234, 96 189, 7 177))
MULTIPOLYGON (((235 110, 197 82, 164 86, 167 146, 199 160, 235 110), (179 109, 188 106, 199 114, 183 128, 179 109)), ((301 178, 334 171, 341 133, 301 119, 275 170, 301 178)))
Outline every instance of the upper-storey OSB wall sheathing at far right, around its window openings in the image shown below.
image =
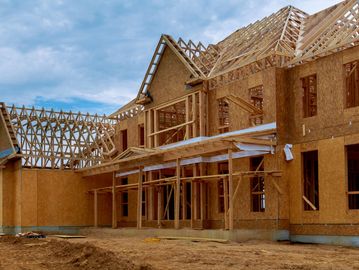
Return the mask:
MULTIPOLYGON (((359 132, 359 108, 344 107, 344 64, 359 59, 359 47, 288 70, 288 142, 301 143, 359 132), (303 118, 301 78, 317 74, 317 116, 303 118), (303 136, 305 125, 305 136, 303 136)), ((283 130, 279 137, 283 137, 283 130)))

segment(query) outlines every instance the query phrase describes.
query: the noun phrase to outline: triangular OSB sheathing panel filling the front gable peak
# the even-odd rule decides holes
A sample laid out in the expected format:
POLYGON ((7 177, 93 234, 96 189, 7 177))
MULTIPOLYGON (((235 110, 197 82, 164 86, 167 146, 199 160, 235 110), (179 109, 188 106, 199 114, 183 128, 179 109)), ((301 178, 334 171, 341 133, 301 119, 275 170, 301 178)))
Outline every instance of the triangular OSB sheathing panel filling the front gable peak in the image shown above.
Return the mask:
POLYGON ((190 79, 190 75, 177 55, 167 47, 149 90, 153 102, 148 104, 146 109, 189 94, 191 91, 185 89, 185 82, 190 79))

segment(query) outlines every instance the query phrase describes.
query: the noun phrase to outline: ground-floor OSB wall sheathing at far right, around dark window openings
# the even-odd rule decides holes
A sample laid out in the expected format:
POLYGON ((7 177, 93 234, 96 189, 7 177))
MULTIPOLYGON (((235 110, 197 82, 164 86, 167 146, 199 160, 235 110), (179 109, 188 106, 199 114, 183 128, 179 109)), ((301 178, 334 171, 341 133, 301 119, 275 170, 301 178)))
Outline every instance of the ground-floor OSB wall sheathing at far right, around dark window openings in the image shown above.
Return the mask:
POLYGON ((294 160, 285 167, 290 183, 291 224, 355 224, 359 223, 358 210, 348 210, 345 142, 359 143, 348 136, 320 140, 314 144, 294 145, 294 160), (303 210, 301 153, 318 150, 319 210, 303 210))

